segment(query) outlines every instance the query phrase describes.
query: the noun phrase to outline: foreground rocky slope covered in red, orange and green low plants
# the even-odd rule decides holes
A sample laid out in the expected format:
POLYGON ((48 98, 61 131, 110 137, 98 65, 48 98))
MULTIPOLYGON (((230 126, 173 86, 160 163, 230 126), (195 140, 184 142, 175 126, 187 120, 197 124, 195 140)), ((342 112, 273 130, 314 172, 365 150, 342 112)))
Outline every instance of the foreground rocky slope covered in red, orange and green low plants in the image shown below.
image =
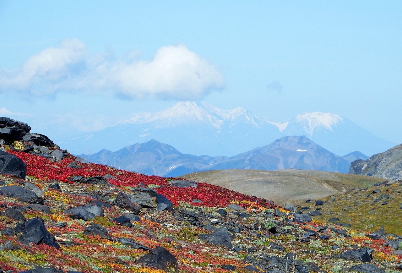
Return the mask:
POLYGON ((314 221, 314 213, 291 204, 284 209, 205 183, 148 177, 85 163, 55 146, 31 146, 40 145, 18 138, 1 145, 25 163, 26 177, 0 174, 0 272, 401 268, 402 256, 390 246, 401 239, 395 234, 379 230, 378 238, 373 232, 357 240, 355 230, 314 221), (55 151, 62 156, 49 156, 55 151))

